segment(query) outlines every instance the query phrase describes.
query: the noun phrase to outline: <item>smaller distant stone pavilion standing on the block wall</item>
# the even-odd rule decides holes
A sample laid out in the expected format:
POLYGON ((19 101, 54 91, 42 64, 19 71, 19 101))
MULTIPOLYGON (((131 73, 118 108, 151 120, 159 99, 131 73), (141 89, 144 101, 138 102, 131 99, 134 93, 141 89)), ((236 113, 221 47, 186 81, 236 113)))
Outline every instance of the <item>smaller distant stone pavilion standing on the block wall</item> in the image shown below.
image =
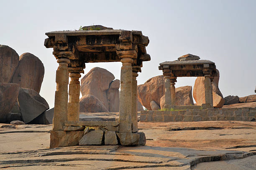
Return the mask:
POLYGON ((164 109, 196 109, 212 108, 212 80, 217 76, 215 63, 210 60, 199 60, 192 54, 183 55, 175 61, 160 63, 159 70, 163 71, 165 88, 164 109), (202 106, 175 106, 175 82, 177 77, 205 77, 205 104, 202 106))

